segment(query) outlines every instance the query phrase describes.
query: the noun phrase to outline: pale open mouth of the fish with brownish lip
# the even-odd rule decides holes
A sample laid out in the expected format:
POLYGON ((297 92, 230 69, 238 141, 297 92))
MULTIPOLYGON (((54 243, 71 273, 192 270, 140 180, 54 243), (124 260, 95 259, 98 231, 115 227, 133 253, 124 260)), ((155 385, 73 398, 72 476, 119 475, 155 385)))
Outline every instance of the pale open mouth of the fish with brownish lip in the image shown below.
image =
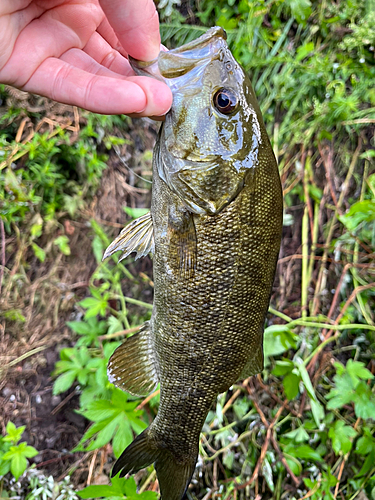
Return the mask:
POLYGON ((226 47, 226 39, 225 30, 215 26, 182 47, 161 51, 153 61, 138 61, 128 56, 129 62, 137 75, 156 78, 174 90, 175 78, 186 75, 195 68, 204 67, 208 61, 219 59, 220 49, 226 47))

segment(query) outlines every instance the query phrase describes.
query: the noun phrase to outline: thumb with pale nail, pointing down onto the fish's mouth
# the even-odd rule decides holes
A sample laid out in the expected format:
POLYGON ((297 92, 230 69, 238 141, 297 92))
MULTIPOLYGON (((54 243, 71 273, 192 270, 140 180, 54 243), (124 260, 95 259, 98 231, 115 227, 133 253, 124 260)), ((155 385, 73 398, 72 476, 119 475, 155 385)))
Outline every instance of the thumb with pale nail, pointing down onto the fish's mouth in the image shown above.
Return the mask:
POLYGON ((128 54, 141 61, 156 59, 160 33, 153 0, 100 0, 100 4, 128 54))

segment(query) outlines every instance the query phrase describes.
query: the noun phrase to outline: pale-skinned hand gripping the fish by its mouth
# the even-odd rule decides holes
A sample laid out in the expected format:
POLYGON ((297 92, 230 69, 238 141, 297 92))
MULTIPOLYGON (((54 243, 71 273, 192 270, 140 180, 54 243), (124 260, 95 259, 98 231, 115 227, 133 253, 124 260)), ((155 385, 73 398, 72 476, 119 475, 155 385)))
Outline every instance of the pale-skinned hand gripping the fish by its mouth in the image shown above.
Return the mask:
POLYGON ((104 114, 162 116, 164 83, 127 59, 160 51, 152 0, 1 0, 0 83, 104 114))

